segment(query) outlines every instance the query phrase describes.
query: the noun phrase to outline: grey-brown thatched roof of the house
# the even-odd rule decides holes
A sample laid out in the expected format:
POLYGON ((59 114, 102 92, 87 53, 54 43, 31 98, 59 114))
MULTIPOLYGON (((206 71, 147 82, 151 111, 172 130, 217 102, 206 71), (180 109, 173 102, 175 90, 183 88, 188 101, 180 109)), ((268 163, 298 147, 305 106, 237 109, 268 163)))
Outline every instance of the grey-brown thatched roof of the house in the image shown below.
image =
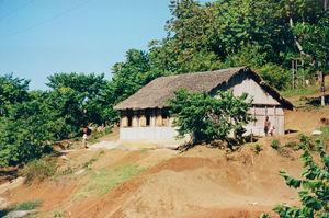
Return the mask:
POLYGON ((204 88, 207 92, 211 92, 239 73, 250 73, 253 80, 269 92, 273 99, 279 101, 283 107, 294 108, 290 101, 263 81, 258 73, 248 67, 239 67, 157 78, 125 101, 118 103, 114 106, 114 110, 163 108, 167 107, 166 100, 174 97, 173 91, 180 88, 185 88, 189 91, 201 91, 204 88))

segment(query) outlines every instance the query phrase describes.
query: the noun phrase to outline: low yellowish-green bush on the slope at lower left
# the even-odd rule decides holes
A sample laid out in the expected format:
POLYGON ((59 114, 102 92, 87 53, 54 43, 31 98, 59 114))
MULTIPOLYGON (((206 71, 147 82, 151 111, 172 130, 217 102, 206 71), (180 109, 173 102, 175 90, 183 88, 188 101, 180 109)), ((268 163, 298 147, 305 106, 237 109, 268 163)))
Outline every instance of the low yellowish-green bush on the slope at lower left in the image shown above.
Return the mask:
POLYGON ((46 156, 38 160, 29 162, 23 169, 19 170, 19 174, 25 177, 25 183, 31 184, 35 179, 43 181, 55 175, 56 164, 55 159, 46 156))

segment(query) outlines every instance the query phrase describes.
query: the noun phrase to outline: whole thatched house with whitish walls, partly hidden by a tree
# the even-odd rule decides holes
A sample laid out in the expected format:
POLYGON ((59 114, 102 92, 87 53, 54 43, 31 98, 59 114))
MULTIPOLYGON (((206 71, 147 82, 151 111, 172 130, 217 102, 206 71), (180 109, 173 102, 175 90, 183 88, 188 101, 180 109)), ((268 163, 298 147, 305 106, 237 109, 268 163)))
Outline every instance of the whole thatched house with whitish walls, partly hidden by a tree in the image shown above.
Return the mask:
POLYGON ((284 110, 293 110, 293 104, 269 85, 248 67, 230 68, 207 72, 194 72, 161 77, 152 80, 138 92, 118 103, 114 110, 121 111, 121 140, 173 140, 177 131, 171 124, 174 117, 168 113, 166 100, 174 97, 173 91, 185 88, 216 95, 218 90, 234 90, 236 96, 247 92, 253 96, 250 113, 257 122, 245 128, 253 135, 264 135, 264 121, 269 116, 275 126, 274 135, 284 134, 284 110))

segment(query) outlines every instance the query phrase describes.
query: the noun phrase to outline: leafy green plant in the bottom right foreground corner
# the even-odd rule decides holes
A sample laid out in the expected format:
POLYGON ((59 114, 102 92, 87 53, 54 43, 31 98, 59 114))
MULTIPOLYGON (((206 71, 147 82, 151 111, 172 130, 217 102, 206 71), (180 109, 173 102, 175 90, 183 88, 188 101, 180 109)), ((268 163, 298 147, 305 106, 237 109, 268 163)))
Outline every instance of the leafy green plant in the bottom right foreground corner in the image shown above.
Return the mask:
MULTIPOLYGON (((284 177, 288 186, 302 188, 298 191, 300 197, 300 207, 292 207, 286 204, 279 204, 273 209, 281 218, 297 218, 297 217, 329 217, 329 156, 325 152, 322 145, 318 145, 321 164, 317 164, 308 150, 305 150, 300 156, 304 163, 302 171, 303 179, 290 176, 286 171, 281 171, 281 176, 284 177)), ((268 218, 268 215, 262 215, 262 218, 268 218)))

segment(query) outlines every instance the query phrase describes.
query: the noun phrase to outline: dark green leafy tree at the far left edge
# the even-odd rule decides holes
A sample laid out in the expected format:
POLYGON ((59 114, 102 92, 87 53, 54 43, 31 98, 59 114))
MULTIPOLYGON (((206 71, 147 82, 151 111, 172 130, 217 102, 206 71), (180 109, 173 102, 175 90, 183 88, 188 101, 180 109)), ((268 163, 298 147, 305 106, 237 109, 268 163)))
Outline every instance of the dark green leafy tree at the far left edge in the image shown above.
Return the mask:
POLYGON ((41 91, 30 94, 30 101, 10 106, 0 117, 0 167, 15 165, 39 158, 45 141, 53 140, 53 125, 41 91))

